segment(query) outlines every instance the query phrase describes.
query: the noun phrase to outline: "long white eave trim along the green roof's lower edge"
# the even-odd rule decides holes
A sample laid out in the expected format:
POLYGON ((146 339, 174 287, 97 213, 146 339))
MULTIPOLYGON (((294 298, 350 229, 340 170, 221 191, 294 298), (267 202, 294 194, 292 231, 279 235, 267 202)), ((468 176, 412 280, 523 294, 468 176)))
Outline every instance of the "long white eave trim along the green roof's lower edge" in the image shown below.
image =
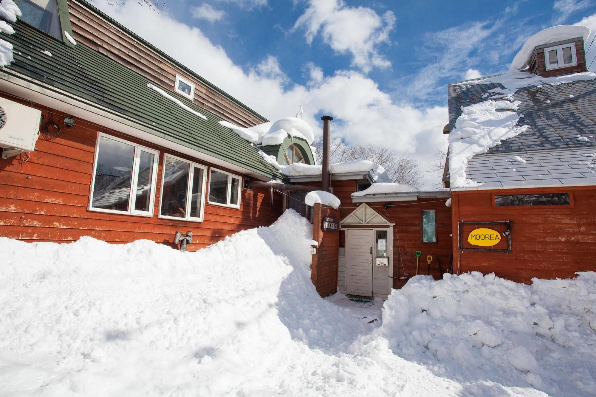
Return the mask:
POLYGON ((210 156, 209 154, 172 142, 169 139, 165 139, 164 134, 156 131, 153 126, 147 123, 140 123, 136 120, 118 116, 113 113, 113 110, 110 110, 107 107, 91 103, 64 90, 38 82, 38 80, 30 79, 13 70, 11 70, 11 75, 0 70, 0 91, 17 98, 33 101, 42 106, 72 114, 75 118, 79 117, 80 119, 88 120, 91 123, 95 123, 98 127, 113 129, 114 131, 131 135, 131 137, 159 145, 164 149, 178 151, 179 153, 194 157, 195 159, 243 173, 244 175, 258 179, 259 181, 268 182, 272 180, 269 176, 262 175, 241 166, 228 163, 225 160, 210 156), (18 77, 14 77, 13 74, 18 77), (35 81, 35 83, 33 83, 33 81, 35 81))

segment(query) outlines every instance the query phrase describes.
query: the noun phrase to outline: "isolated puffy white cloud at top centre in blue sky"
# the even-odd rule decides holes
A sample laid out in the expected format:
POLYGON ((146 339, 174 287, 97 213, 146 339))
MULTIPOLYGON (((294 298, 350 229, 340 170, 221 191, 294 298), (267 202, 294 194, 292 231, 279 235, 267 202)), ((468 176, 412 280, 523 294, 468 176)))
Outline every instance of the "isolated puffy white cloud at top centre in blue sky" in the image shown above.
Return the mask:
POLYGON ((352 65, 368 73, 373 67, 391 66, 379 46, 390 43, 395 21, 392 11, 378 15, 371 8, 349 7, 342 0, 310 0, 293 30, 304 29, 309 44, 321 31, 326 44, 338 54, 350 54, 352 65))

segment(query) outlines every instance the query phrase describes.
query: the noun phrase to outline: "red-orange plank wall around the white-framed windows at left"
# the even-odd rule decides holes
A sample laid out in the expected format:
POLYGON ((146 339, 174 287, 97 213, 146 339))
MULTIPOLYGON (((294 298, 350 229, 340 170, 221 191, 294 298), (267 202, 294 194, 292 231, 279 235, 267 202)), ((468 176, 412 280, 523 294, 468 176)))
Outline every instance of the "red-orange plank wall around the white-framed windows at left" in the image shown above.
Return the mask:
MULTIPOLYGON (((35 107, 42 110, 42 123, 46 122, 48 109, 35 107)), ((58 120, 58 115, 64 116, 55 110, 53 113, 54 120, 58 120)), ((210 166, 175 151, 167 150, 167 153, 210 166)), ((40 135, 27 162, 22 161, 22 154, 0 159, 0 235, 58 243, 77 240, 83 235, 110 243, 144 238, 173 246, 176 231, 183 234, 193 231, 193 244, 188 249, 197 250, 235 232, 270 225, 281 215, 279 195, 274 196, 270 207, 268 190, 243 189, 240 209, 205 204, 203 222, 158 219, 163 156, 163 148, 85 120, 77 119, 73 128, 57 138, 48 140, 40 135), (97 131, 160 150, 153 217, 87 209, 97 131)))

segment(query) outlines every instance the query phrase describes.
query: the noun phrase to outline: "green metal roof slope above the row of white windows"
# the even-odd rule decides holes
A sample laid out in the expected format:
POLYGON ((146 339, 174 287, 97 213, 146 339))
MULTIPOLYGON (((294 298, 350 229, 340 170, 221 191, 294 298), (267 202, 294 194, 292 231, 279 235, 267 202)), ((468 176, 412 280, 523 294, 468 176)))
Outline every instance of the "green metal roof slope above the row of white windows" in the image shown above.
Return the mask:
POLYGON ((14 45, 14 61, 3 72, 20 73, 56 88, 63 96, 72 94, 73 99, 83 98, 101 110, 107 108, 157 137, 263 176, 284 178, 249 142, 219 125, 222 118, 209 110, 164 89, 208 120, 195 116, 148 88, 148 83, 156 85, 153 81, 81 43, 67 45, 21 21, 14 24, 14 30, 13 35, 0 33, 2 39, 14 45))

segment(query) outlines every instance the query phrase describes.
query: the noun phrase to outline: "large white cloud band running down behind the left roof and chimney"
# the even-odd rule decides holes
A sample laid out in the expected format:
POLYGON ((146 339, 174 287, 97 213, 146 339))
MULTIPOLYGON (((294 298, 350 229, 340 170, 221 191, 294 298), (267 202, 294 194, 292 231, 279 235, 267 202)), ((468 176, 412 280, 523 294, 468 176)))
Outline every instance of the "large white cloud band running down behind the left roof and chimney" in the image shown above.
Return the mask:
MULTIPOLYGON (((302 101, 305 120, 315 132, 321 133, 322 127, 316 116, 331 114, 335 119, 333 134, 349 142, 387 145, 415 157, 424 168, 433 162, 436 147, 446 147, 442 134, 448 122, 446 107, 398 105, 360 72, 344 70, 325 76, 320 67, 308 64, 305 71, 309 82, 299 85, 289 81, 277 58, 271 55, 256 67, 234 64, 225 50, 213 45, 201 30, 174 20, 167 11, 157 14, 136 3, 126 8, 111 7, 107 2, 98 2, 97 6, 270 120, 293 116, 302 101)), ((425 178, 430 188, 440 175, 425 173, 425 178)))

